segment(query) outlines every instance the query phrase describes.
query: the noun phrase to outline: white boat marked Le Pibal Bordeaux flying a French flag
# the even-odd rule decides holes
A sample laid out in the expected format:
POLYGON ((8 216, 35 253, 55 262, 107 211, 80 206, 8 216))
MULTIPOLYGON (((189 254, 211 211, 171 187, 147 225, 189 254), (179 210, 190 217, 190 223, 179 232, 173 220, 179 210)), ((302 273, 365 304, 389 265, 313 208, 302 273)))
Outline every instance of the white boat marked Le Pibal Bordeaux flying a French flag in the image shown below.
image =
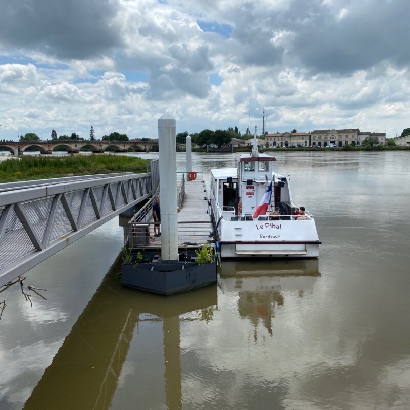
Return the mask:
POLYGON ((211 170, 210 206, 222 258, 319 256, 314 217, 306 210, 305 220, 297 220, 290 176, 274 171, 275 162, 258 151, 255 126, 251 154, 241 155, 237 168, 211 170), (262 198, 268 204, 260 213, 262 198), (270 215, 276 207, 280 215, 270 215))

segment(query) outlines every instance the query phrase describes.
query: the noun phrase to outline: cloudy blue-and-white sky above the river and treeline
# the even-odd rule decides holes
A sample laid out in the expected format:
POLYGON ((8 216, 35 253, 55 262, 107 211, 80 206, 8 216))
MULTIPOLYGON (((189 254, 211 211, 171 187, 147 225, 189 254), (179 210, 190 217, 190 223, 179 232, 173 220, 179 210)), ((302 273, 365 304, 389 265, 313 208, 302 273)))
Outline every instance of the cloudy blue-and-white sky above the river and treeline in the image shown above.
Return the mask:
POLYGON ((410 127, 408 0, 0 0, 0 139, 410 127))

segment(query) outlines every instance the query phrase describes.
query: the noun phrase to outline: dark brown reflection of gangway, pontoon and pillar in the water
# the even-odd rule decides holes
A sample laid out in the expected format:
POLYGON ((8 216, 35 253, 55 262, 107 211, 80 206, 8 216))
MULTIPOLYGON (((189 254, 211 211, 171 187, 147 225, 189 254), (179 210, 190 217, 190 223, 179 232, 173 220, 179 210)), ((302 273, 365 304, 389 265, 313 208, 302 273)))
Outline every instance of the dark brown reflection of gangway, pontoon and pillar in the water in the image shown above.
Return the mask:
MULTIPOLYGON (((179 315, 208 311, 217 304, 217 288, 208 286, 171 297, 138 292, 121 287, 120 267, 118 258, 45 370, 24 409, 109 409, 130 344, 133 339, 138 343, 140 337, 135 330, 147 324, 147 314, 150 323, 163 321, 163 393, 169 409, 181 408, 179 315)), ((152 354, 150 346, 147 351, 152 354)), ((162 352, 155 352, 155 356, 162 352)), ((139 383, 138 376, 144 377, 144 374, 140 371, 135 376, 135 385, 139 383)))

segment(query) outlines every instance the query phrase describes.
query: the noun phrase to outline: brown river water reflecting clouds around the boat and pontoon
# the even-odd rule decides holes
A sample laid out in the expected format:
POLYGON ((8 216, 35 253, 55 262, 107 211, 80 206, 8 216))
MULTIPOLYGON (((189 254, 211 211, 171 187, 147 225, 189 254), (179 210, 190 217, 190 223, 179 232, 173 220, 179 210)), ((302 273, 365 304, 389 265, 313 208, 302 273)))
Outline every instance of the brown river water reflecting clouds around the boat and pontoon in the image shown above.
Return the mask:
POLYGON ((272 155, 318 260, 222 261, 218 285, 151 295, 121 288, 115 218, 27 272, 47 300, 7 295, 0 409, 410 408, 410 152, 272 155))

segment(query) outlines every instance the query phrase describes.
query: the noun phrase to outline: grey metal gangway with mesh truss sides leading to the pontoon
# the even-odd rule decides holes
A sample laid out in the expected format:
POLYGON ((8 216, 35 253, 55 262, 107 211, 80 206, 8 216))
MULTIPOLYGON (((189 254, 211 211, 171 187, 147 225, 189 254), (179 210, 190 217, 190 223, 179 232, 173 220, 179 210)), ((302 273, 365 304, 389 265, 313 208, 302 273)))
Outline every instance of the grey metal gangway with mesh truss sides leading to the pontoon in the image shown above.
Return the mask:
POLYGON ((150 198, 150 171, 0 183, 0 286, 150 198))

